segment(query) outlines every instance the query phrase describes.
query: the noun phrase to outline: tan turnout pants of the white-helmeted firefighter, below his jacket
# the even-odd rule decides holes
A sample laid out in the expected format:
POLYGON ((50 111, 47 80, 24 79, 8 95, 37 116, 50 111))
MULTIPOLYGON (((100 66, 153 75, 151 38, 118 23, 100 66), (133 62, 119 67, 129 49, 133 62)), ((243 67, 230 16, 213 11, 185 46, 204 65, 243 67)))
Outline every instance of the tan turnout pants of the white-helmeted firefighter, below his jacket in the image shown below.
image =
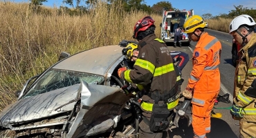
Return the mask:
POLYGON ((256 122, 240 121, 240 136, 239 138, 256 137, 256 122))

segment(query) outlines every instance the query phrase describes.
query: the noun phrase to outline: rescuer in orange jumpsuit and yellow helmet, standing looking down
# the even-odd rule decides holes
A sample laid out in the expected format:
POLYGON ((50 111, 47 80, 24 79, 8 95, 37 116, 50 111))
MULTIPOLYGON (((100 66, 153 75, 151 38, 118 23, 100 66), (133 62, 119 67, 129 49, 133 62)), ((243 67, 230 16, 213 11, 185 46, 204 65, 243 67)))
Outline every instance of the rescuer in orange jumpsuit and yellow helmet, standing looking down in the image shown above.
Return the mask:
POLYGON ((204 32, 204 27, 205 23, 199 15, 193 15, 183 25, 188 37, 192 41, 197 41, 188 86, 182 92, 185 98, 192 99, 194 138, 210 137, 210 112, 219 94, 221 83, 221 43, 208 32, 204 32))

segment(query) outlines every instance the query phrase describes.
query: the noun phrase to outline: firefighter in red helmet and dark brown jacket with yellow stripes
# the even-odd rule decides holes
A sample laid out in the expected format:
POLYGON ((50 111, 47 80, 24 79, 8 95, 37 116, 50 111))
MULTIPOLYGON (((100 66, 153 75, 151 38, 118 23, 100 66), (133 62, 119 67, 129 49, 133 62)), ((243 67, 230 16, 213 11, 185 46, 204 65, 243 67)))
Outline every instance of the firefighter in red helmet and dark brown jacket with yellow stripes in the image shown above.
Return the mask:
POLYGON ((134 69, 118 69, 121 79, 144 88, 145 92, 140 97, 143 119, 139 124, 139 133, 140 137, 147 138, 162 137, 179 102, 172 57, 164 41, 156 38, 154 22, 149 16, 136 22, 133 37, 138 40, 138 59, 134 69))

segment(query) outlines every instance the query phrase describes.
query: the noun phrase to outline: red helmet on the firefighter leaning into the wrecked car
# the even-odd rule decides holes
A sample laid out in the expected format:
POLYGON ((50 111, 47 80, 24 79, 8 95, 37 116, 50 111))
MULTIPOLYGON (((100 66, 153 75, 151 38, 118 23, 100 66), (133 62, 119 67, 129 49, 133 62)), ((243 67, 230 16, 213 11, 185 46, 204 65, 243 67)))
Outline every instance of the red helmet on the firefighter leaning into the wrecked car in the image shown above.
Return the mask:
POLYGON ((134 35, 132 36, 134 39, 138 37, 138 32, 145 31, 150 26, 154 25, 154 19, 152 17, 144 17, 143 19, 140 19, 137 21, 137 23, 134 26, 134 35))

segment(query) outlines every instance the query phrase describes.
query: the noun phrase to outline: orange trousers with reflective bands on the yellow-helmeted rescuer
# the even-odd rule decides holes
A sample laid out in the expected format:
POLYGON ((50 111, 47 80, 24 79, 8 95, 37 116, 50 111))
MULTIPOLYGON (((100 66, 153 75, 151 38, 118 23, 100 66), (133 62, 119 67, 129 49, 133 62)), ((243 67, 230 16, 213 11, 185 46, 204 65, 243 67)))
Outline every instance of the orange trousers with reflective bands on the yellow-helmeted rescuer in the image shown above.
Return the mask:
POLYGON ((198 137, 205 137, 210 132, 210 112, 217 99, 219 91, 202 93, 194 91, 192 98, 192 127, 194 134, 198 137))

